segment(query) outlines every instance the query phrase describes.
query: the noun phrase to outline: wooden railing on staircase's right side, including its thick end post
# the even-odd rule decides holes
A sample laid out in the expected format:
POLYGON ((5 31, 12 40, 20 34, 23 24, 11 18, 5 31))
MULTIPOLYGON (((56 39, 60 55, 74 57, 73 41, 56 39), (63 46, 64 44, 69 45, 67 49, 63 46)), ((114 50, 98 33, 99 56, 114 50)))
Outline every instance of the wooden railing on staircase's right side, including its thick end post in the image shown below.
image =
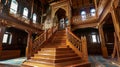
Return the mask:
POLYGON ((88 61, 87 42, 86 37, 78 38, 70 30, 66 29, 67 45, 72 48, 84 61, 88 61))

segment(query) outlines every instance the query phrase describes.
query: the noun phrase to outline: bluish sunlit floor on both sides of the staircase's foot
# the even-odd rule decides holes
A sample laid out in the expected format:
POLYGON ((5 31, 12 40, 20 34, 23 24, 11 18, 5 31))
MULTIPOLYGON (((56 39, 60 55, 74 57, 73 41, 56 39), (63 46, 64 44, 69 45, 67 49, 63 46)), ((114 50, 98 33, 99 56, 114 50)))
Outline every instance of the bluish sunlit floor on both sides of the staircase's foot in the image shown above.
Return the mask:
MULTIPOLYGON (((0 67, 19 67, 25 60, 25 57, 21 57, 16 59, 0 61, 0 67)), ((92 63, 91 67, 120 67, 120 65, 113 63, 111 59, 104 59, 102 56, 89 56, 89 61, 92 63)))

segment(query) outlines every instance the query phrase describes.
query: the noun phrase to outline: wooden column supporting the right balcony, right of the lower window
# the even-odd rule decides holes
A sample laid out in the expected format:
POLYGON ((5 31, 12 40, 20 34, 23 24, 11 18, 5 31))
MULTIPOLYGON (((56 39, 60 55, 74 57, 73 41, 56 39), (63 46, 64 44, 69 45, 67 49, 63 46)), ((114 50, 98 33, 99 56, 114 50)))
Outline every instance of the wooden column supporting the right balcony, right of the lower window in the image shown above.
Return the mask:
POLYGON ((107 51, 107 47, 105 45, 105 37, 104 37, 104 32, 103 32, 102 26, 99 26, 99 35, 100 35, 100 41, 101 41, 102 55, 103 55, 103 57, 108 57, 108 51, 107 51))

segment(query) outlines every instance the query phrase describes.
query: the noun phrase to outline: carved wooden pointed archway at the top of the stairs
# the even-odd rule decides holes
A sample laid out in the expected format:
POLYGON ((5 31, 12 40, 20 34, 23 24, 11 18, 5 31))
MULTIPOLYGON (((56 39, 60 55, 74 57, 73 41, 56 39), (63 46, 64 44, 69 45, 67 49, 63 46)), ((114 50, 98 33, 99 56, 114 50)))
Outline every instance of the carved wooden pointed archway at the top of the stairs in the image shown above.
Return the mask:
POLYGON ((52 12, 51 12, 51 18, 53 19, 55 17, 55 13, 61 8, 63 10, 66 11, 66 16, 68 18, 68 25, 70 25, 70 19, 71 19, 71 8, 70 8, 70 2, 67 1, 59 1, 59 2, 55 2, 50 4, 51 8, 52 8, 52 12))

